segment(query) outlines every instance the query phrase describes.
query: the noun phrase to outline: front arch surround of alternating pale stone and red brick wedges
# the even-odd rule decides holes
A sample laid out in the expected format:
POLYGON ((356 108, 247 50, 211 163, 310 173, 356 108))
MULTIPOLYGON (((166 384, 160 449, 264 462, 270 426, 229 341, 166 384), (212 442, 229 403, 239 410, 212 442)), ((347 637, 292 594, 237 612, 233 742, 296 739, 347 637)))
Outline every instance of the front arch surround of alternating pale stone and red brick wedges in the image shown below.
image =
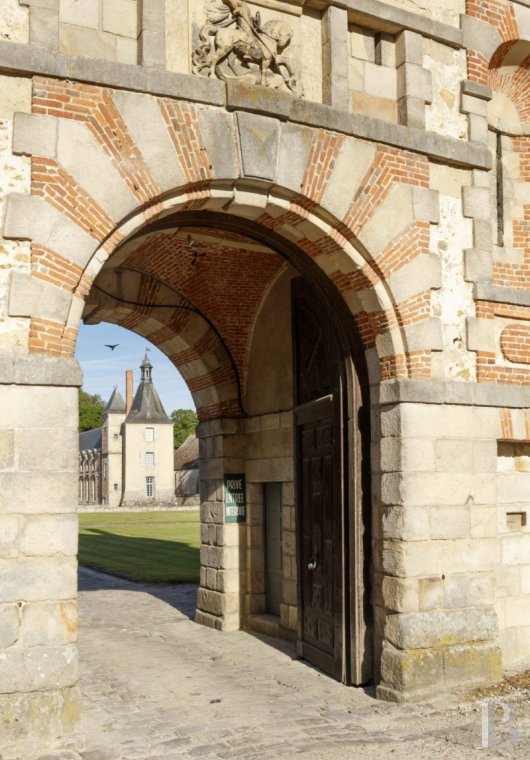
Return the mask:
POLYGON ((429 225, 436 222, 437 210, 436 194, 428 188, 428 162, 421 156, 324 130, 281 125, 267 117, 216 113, 193 104, 38 78, 33 113, 20 115, 14 143, 17 152, 32 156, 32 195, 11 197, 5 234, 31 239, 32 279, 64 291, 48 289, 55 293, 54 314, 50 305, 47 313, 31 315, 30 341, 36 351, 71 354, 76 328, 69 319, 75 321, 75 308, 80 308, 102 258, 146 220, 197 208, 245 217, 245 206, 256 205, 262 224, 311 255, 346 300, 359 300, 353 310, 370 348, 377 335, 390 337, 385 349, 377 351, 383 377, 428 374, 430 352, 439 347, 435 320, 429 316, 430 289, 437 286, 429 225), (108 119, 118 125, 119 135, 108 119), (185 147, 178 140, 184 125, 191 143, 185 147), (233 148, 220 159, 214 146, 223 138, 233 148), (236 154, 238 139, 241 157, 236 154), (267 153, 256 160, 265 143, 267 153), (157 160, 161 155, 163 160, 157 160), (351 175, 352 164, 349 198, 341 182, 346 173, 351 175), (245 178, 241 185, 239 175, 245 178), (252 178, 250 185, 247 177, 252 178), (275 193, 267 187, 271 182, 287 192, 275 193), (158 201, 166 193, 172 197, 158 201), (143 209, 139 216, 134 213, 138 207, 143 209), (319 219, 330 213, 334 223, 319 219), (120 224, 124 216, 125 225, 120 224), (17 228, 24 217, 32 220, 33 229, 17 228), (316 231, 310 231, 315 225, 316 231), (323 247, 326 238, 331 239, 323 247), (76 260, 68 257, 71 245, 76 260), (424 275, 425 287, 410 292, 411 279, 422 282, 417 272, 424 275), (385 281, 396 289, 395 304, 385 281), (64 327, 69 290, 74 298, 64 327))

